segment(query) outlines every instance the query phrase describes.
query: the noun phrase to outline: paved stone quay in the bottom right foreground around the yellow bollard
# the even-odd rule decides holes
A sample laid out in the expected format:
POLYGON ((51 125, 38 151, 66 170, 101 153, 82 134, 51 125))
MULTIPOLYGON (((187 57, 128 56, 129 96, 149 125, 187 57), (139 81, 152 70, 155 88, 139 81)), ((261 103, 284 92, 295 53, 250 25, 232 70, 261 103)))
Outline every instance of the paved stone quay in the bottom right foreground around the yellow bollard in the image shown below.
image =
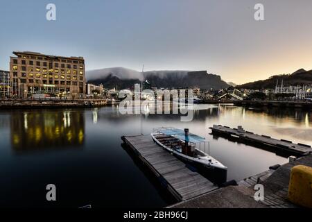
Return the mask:
POLYGON ((182 201, 168 208, 297 208, 288 200, 288 183, 291 169, 297 165, 312 167, 312 155, 284 164, 266 176, 260 173, 258 176, 245 178, 237 186, 229 186, 211 191, 191 200, 182 201), (254 180, 257 178, 257 180, 254 180), (258 179, 259 178, 259 179, 258 179), (264 200, 254 200, 254 185, 257 183, 264 187, 264 200))

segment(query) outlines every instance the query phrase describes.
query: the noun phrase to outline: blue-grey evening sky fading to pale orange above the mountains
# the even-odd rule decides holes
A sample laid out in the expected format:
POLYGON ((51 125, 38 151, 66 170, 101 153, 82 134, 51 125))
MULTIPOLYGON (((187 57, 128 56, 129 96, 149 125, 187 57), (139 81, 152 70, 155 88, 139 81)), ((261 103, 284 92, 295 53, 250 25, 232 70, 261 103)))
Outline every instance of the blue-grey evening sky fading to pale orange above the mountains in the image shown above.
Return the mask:
POLYGON ((144 64, 241 84, 312 69, 311 27, 311 0, 0 0, 0 69, 12 51, 36 51, 83 56, 87 70, 144 64))

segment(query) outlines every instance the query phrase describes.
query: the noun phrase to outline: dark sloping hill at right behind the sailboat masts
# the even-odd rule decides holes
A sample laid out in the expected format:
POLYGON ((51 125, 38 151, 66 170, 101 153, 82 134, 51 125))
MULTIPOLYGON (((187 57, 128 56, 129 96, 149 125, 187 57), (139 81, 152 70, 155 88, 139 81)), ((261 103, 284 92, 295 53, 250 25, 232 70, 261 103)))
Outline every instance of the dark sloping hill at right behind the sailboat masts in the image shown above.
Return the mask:
POLYGON ((266 80, 259 80, 252 83, 245 83, 243 85, 238 85, 239 88, 245 89, 274 89, 277 83, 281 84, 283 80, 283 85, 310 85, 312 84, 312 70, 306 71, 304 69, 298 69, 293 74, 282 74, 271 76, 266 80))

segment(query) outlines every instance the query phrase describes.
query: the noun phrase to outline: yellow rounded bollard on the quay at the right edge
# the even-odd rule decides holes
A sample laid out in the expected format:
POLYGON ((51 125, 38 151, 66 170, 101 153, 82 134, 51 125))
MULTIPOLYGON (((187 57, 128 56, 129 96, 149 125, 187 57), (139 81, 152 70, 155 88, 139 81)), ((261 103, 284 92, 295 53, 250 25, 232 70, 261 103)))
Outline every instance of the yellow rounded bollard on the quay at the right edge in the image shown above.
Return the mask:
POLYGON ((302 207, 312 208, 312 168, 302 165, 291 169, 288 200, 302 207))

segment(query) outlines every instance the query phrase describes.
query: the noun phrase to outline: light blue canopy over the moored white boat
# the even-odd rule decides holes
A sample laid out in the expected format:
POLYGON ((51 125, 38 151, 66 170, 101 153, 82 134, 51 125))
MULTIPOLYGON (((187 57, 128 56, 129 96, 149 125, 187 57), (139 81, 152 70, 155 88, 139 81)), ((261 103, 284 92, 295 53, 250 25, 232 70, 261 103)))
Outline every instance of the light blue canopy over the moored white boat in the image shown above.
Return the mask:
POLYGON ((186 137, 184 134, 184 130, 176 129, 176 128, 157 128, 155 132, 162 133, 164 135, 169 135, 171 137, 175 137, 177 139, 184 140, 185 142, 191 142, 194 144, 206 142, 204 137, 200 137, 198 135, 189 133, 189 136, 186 137))

